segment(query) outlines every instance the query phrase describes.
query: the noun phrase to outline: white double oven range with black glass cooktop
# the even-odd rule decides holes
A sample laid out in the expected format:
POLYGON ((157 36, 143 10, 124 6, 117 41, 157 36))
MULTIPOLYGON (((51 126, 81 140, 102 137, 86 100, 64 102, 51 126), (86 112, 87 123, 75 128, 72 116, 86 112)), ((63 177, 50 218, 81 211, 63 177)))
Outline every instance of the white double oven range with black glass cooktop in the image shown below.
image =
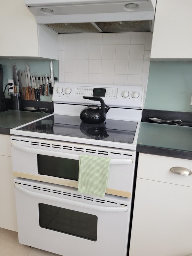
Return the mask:
POLYGON ((143 87, 55 83, 52 99, 53 114, 10 130, 19 243, 126 256, 143 87), (85 124, 82 96, 94 91, 111 109, 104 123, 85 124), (104 197, 78 192, 81 155, 110 158, 104 197))

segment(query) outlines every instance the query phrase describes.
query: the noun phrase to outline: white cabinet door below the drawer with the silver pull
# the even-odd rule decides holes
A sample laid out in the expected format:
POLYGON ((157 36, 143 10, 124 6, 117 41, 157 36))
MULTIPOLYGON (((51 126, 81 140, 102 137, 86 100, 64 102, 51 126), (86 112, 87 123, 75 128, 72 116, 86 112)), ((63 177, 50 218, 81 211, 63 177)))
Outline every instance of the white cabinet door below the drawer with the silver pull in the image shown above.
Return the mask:
POLYGON ((129 256, 192 254, 192 188, 137 178, 129 256))

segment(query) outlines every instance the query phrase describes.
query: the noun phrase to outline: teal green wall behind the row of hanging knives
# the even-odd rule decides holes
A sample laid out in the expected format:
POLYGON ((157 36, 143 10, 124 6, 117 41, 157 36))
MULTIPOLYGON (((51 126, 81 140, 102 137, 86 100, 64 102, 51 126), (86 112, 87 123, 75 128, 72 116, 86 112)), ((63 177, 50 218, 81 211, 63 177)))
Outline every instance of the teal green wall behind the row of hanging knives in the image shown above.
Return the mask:
MULTIPOLYGON (((0 59, 0 64, 3 68, 3 88, 5 88, 8 83, 8 79, 13 79, 13 63, 16 65, 17 71, 19 69, 26 70, 26 63, 29 65, 30 73, 37 72, 38 76, 41 74, 49 74, 50 71, 50 62, 51 60, 41 60, 41 59, 0 59)), ((58 60, 53 60, 53 74, 54 77, 58 78, 58 60)), ((8 87, 8 86, 7 86, 8 87)), ((7 88, 8 89, 8 88, 7 88)), ((6 89, 6 98, 10 98, 7 94, 6 89)), ((4 90, 4 89, 3 89, 4 90)), ((42 96, 41 101, 52 101, 51 95, 42 96)))

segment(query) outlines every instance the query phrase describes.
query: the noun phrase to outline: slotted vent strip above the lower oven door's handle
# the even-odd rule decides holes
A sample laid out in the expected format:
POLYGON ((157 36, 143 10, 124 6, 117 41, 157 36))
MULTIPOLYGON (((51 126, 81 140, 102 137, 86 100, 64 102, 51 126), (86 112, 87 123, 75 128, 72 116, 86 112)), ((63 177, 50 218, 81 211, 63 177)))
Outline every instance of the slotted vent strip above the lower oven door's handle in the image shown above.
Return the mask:
POLYGON ((121 205, 121 206, 128 206, 127 204, 124 204, 122 203, 122 201, 118 202, 117 201, 112 201, 112 200, 105 200, 105 199, 99 199, 97 197, 92 197, 92 196, 83 196, 81 194, 76 194, 76 193, 71 193, 71 192, 67 192, 65 190, 55 190, 55 189, 50 189, 50 188, 46 188, 46 187, 41 187, 41 186, 35 186, 35 185, 30 185, 30 184, 27 184, 26 182, 25 183, 20 183, 20 182, 15 182, 16 184, 22 184, 22 185, 25 185, 27 186, 28 188, 31 187, 32 189, 35 189, 35 190, 39 190, 39 191, 44 191, 44 192, 51 192, 53 194, 59 194, 61 197, 63 196, 65 198, 65 196, 67 196, 67 199, 68 199, 68 196, 70 197, 75 197, 76 200, 89 200, 89 201, 93 201, 93 202, 97 202, 97 203, 101 203, 101 204, 107 204, 107 205, 121 205))

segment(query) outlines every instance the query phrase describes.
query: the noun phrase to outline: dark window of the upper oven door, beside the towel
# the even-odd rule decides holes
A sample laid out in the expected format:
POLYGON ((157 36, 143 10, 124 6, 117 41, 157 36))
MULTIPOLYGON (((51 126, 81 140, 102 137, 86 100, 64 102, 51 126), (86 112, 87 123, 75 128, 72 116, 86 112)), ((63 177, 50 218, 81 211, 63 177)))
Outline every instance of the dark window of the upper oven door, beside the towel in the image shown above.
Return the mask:
POLYGON ((37 155, 38 173, 63 179, 78 180, 79 160, 37 155))

